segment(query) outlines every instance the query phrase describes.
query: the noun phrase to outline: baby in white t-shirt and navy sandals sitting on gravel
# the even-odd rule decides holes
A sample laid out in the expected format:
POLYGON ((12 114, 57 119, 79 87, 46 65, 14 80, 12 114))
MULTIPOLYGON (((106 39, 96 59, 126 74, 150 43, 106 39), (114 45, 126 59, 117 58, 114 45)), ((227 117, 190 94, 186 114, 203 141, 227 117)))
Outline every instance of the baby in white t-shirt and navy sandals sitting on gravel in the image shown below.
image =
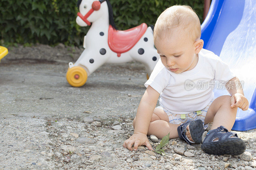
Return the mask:
POLYGON ((134 134, 124 142, 132 151, 140 145, 153 150, 147 135, 180 137, 189 144, 201 143, 204 129, 212 123, 201 148, 214 155, 238 155, 245 143, 230 132, 237 108, 249 103, 239 79, 220 57, 203 49, 201 25, 191 7, 175 5, 157 19, 154 43, 160 59, 150 78, 133 121, 134 134), (216 81, 224 82, 231 96, 214 98, 216 81), (203 86, 201 86, 203 85, 203 86), (160 106, 156 107, 159 99, 160 106))

